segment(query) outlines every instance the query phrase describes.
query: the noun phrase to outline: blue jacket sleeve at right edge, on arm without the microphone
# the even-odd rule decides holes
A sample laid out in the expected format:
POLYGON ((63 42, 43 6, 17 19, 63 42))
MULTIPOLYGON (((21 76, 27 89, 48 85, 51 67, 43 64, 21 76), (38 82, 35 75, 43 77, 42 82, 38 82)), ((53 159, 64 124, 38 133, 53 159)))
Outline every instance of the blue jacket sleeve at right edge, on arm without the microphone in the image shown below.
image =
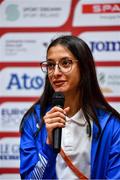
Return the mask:
POLYGON ((120 179, 120 119, 114 122, 107 179, 120 179))

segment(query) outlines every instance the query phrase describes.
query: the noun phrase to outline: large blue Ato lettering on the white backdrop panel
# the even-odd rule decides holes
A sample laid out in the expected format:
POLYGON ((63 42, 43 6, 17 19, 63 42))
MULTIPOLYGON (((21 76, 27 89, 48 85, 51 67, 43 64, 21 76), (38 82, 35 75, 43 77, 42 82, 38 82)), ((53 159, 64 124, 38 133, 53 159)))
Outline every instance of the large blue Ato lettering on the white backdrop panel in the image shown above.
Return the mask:
POLYGON ((30 75, 24 73, 22 76, 19 76, 16 73, 12 73, 10 81, 8 83, 7 89, 40 89, 43 86, 43 78, 40 76, 31 77, 30 75))

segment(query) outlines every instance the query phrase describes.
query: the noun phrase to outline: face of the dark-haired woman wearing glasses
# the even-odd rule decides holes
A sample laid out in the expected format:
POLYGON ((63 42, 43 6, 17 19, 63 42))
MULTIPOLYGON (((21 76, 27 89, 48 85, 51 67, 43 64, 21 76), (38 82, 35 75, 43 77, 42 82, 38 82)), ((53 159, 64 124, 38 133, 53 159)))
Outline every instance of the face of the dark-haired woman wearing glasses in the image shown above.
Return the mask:
POLYGON ((52 63, 59 63, 61 60, 72 60, 72 68, 69 72, 62 72, 58 65, 52 73, 48 73, 49 81, 54 91, 63 92, 64 94, 76 95, 79 92, 80 70, 78 61, 74 55, 64 46, 56 45, 49 49, 47 60, 52 63))

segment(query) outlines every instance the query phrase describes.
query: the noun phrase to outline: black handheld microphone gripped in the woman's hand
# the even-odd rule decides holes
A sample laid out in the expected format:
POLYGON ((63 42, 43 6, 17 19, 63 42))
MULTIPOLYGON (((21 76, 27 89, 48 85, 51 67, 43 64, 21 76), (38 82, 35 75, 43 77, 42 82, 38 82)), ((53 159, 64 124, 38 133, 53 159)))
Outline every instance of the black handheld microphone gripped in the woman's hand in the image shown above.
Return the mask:
MULTIPOLYGON (((55 92, 52 96, 52 107, 59 106, 60 108, 64 107, 65 97, 61 92, 55 92)), ((53 129, 53 149, 55 152, 59 153, 61 149, 61 136, 62 128, 53 129)))

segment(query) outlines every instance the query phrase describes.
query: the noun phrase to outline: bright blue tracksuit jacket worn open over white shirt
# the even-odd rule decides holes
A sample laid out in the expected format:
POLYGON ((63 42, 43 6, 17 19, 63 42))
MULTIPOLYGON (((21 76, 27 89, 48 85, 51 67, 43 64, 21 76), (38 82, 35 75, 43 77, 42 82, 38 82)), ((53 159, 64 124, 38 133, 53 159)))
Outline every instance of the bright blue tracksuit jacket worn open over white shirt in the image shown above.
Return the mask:
MULTIPOLYGON (((40 106, 35 105, 40 121, 40 106)), ((91 147, 91 179, 120 179, 120 119, 97 110, 101 135, 93 123, 91 147)), ((57 179, 55 164, 57 154, 47 145, 45 125, 37 131, 36 117, 27 115, 20 139, 20 174, 22 179, 57 179)))

